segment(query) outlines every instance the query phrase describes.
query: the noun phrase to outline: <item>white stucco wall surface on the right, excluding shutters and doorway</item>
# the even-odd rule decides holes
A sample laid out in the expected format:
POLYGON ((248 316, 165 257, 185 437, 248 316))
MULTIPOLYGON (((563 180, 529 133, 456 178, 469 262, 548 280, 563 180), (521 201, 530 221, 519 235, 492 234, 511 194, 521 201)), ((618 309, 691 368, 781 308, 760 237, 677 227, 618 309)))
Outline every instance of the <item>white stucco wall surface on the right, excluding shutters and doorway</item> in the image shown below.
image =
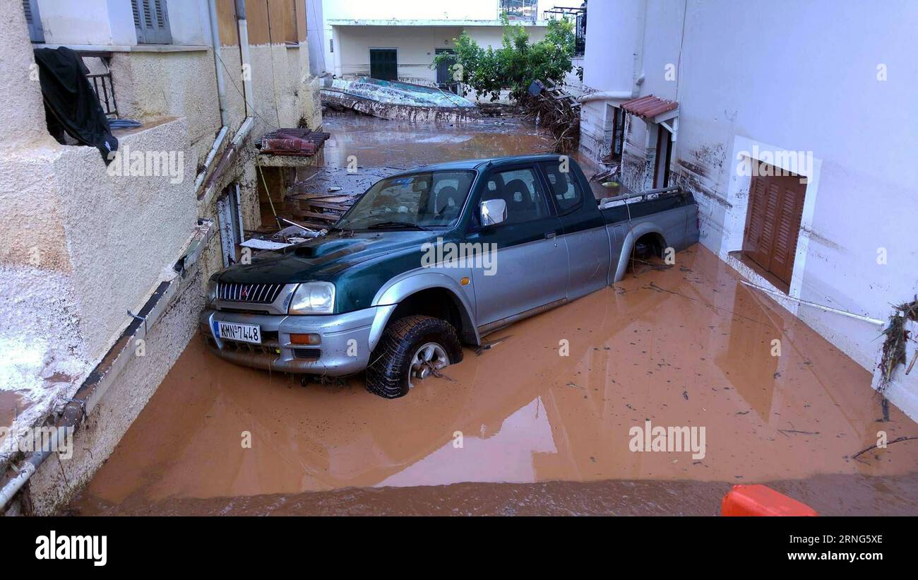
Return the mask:
MULTIPOLYGON (((637 20, 644 2, 591 5, 585 81, 597 90, 628 90, 637 62, 640 95, 678 100, 671 168, 699 201, 702 242, 724 258, 742 247, 749 178, 736 172, 740 151, 812 152, 790 296, 885 319, 890 304, 918 293, 918 186, 910 171, 918 119, 908 113, 918 99, 918 5, 742 4, 689 0, 684 13, 682 5, 649 0, 637 58, 632 30, 597 31, 637 20), (666 78, 667 65, 678 69, 678 82, 666 78), (885 81, 878 80, 880 65, 885 81), (881 248, 886 264, 877 260, 881 248)), ((604 115, 603 104, 584 107, 585 147, 601 138, 604 115)), ((631 127, 628 151, 640 160, 645 124, 632 118, 631 127)), ((625 159, 625 171, 627 165, 625 159)), ((872 369, 876 326, 789 307, 872 369)))

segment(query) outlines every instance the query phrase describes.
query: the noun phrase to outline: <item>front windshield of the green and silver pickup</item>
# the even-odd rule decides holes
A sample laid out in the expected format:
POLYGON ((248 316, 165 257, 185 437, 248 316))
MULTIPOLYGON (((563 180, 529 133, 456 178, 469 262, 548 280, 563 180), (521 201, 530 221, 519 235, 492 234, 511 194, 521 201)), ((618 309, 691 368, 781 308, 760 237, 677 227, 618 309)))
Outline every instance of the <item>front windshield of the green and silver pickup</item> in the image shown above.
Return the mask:
POLYGON ((335 227, 426 229, 452 226, 459 219, 474 179, 472 171, 389 177, 370 187, 335 227))

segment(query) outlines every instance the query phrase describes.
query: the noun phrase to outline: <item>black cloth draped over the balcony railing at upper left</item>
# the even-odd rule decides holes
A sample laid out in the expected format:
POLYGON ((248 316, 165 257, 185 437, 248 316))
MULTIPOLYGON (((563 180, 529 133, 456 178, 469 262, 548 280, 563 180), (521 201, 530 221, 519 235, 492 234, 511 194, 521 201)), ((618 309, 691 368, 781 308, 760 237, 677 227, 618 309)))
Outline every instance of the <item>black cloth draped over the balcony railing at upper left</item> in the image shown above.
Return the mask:
POLYGON ((39 83, 50 134, 63 143, 63 131, 102 152, 106 165, 118 151, 118 139, 108 127, 105 111, 86 74, 83 59, 67 47, 35 49, 39 83))

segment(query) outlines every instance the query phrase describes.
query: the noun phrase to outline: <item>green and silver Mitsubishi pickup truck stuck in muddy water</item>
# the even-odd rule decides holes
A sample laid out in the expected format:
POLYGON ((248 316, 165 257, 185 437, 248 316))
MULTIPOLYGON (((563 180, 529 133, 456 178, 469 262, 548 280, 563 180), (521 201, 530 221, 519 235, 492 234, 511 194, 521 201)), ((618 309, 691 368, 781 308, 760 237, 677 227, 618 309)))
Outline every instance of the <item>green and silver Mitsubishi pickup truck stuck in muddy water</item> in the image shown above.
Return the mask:
POLYGON ((231 362, 365 370, 371 392, 403 396, 463 344, 618 281, 633 252, 698 238, 690 194, 597 200, 564 156, 429 165, 374 184, 325 236, 214 274, 200 329, 231 362))

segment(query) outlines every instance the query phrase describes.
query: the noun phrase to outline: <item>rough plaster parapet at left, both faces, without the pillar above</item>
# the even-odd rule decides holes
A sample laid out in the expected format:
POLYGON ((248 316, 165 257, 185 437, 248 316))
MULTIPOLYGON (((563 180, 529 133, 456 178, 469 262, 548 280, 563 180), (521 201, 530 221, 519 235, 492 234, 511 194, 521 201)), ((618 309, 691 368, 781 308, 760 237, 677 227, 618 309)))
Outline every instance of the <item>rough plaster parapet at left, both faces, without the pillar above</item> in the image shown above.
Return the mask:
MULTIPOLYGON (((172 151, 176 162, 181 151, 185 180, 176 184, 169 175, 110 175, 95 148, 0 153, 0 179, 17 193, 0 205, 0 228, 10 232, 0 253, 9 273, 0 330, 42 362, 38 375, 80 378, 180 255, 196 223, 186 132, 175 119, 120 143, 122 151, 172 151)), ((41 380, 19 379, 23 388, 41 380)))

